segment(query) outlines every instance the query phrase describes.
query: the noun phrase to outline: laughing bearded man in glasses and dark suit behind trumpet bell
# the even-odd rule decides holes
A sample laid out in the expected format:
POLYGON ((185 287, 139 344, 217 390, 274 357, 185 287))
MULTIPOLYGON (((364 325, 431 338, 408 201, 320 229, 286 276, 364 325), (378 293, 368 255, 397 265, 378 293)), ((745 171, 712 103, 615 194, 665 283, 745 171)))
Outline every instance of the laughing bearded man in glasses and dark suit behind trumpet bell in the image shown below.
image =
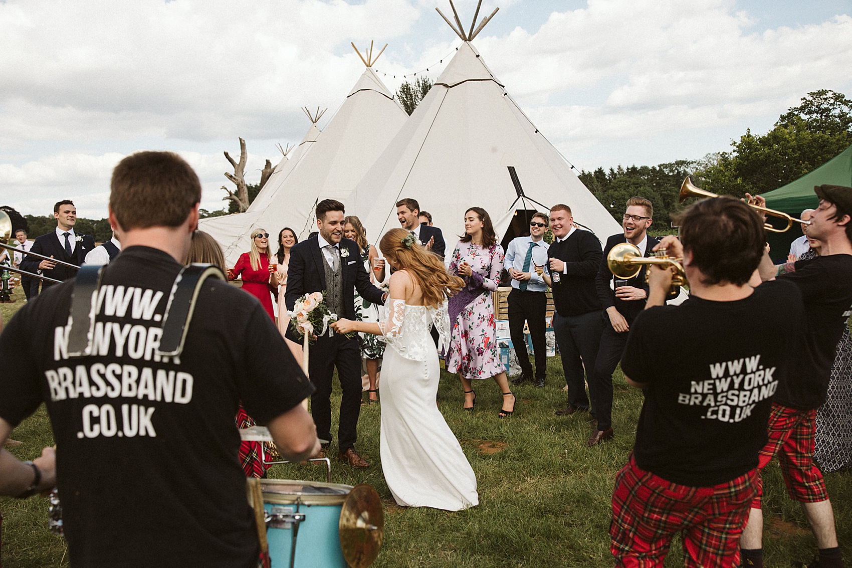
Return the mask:
POLYGON ((603 249, 603 261, 597 271, 595 284, 609 322, 603 327, 601 346, 597 351, 594 373, 595 418, 597 426, 587 445, 595 446, 613 438, 613 371, 624 355, 630 324, 645 309, 648 300, 648 284, 645 282, 645 267, 628 280, 619 280, 609 271, 607 255, 613 246, 629 242, 636 246, 642 256, 653 254, 659 241, 648 236, 648 227, 653 219, 653 205, 642 197, 627 200, 627 209, 621 226, 623 233, 607 239, 603 249), (614 279, 614 282, 613 282, 614 279), (610 284, 613 284, 611 287, 610 284))

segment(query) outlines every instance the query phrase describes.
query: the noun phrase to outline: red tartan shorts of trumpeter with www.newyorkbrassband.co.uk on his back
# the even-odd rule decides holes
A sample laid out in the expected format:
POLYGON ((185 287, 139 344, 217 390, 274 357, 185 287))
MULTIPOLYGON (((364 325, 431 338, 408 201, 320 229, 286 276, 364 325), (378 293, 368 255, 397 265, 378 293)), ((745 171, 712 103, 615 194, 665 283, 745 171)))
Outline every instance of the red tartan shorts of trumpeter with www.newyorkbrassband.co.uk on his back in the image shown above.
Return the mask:
POLYGON ((662 566, 677 532, 682 532, 685 565, 738 565, 757 479, 753 469, 725 484, 688 487, 646 472, 631 454, 615 477, 609 525, 615 565, 662 566))

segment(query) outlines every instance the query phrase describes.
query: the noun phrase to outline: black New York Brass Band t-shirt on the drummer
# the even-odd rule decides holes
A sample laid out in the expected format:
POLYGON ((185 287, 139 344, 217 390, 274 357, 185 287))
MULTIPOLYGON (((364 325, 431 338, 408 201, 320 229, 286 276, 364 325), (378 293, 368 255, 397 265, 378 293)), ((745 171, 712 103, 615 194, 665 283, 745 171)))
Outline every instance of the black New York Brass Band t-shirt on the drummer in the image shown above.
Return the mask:
POLYGON ((260 424, 314 391, 256 298, 204 281, 179 357, 158 356, 181 265, 132 246, 104 268, 93 356, 66 354, 73 282, 0 336, 0 416, 46 403, 71 565, 256 565, 239 401, 260 424))

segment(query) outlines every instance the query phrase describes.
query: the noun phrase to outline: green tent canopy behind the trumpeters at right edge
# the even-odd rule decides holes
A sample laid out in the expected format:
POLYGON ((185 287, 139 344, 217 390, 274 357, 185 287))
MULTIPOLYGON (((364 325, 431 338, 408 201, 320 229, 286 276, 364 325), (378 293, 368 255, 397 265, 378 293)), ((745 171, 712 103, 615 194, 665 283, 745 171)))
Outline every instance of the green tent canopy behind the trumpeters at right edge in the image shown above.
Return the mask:
MULTIPOLYGON (((763 194, 763 197, 766 198, 766 206, 770 209, 798 217, 803 210, 815 209, 819 205, 814 186, 824 183, 852 187, 852 146, 814 171, 763 194)), ((773 222, 771 218, 769 223, 780 224, 780 222, 773 222)), ((769 253, 774 262, 784 262, 787 252, 790 251, 790 243, 800 236, 802 231, 798 223, 793 223, 790 230, 785 233, 767 233, 766 241, 769 242, 769 253)))

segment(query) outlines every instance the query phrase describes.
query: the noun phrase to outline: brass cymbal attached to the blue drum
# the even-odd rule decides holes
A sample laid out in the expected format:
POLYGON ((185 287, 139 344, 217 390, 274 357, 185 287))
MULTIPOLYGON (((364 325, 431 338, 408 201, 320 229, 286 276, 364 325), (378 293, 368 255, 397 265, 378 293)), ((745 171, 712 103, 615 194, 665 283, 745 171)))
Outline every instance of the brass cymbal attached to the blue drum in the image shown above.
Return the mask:
POLYGON ((371 485, 359 484, 349 492, 340 512, 340 548, 352 568, 367 568, 382 548, 382 501, 371 485))

